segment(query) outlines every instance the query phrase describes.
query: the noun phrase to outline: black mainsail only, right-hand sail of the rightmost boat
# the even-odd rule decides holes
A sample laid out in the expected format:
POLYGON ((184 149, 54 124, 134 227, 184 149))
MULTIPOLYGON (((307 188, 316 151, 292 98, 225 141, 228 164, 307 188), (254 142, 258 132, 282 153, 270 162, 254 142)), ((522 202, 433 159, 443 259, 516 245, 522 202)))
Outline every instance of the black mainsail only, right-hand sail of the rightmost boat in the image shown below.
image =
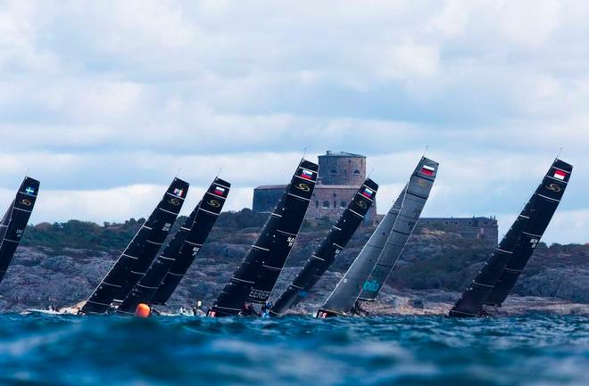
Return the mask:
POLYGON ((572 165, 562 160, 556 160, 552 165, 550 172, 532 199, 535 201, 535 212, 527 221, 526 230, 520 236, 518 247, 508 260, 499 280, 495 283, 493 292, 485 301, 486 305, 501 307, 503 301, 509 296, 550 224, 572 172, 572 165))

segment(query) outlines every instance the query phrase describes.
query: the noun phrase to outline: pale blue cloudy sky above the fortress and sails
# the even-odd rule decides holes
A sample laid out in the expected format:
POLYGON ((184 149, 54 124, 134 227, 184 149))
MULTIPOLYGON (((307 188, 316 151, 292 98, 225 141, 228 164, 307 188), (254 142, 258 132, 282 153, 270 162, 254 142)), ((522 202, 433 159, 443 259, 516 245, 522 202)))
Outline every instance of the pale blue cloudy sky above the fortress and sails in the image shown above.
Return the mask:
POLYGON ((241 209, 306 148, 367 155, 385 212, 428 145, 424 215, 504 232, 563 147, 545 241, 589 242, 587 21, 574 0, 0 0, 0 206, 29 170, 34 223, 145 217, 180 169, 188 210, 221 169, 241 209))

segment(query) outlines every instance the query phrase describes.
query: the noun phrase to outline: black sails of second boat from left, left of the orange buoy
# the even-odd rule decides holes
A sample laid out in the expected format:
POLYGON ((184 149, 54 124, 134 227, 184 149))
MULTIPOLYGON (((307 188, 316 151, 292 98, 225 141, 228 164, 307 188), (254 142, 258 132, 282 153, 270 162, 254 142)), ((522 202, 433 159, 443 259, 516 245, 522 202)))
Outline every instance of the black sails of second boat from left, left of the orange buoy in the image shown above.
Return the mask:
POLYGON ((188 183, 174 178, 162 201, 87 300, 82 313, 104 314, 113 301, 121 302, 127 297, 162 247, 187 192, 188 183))

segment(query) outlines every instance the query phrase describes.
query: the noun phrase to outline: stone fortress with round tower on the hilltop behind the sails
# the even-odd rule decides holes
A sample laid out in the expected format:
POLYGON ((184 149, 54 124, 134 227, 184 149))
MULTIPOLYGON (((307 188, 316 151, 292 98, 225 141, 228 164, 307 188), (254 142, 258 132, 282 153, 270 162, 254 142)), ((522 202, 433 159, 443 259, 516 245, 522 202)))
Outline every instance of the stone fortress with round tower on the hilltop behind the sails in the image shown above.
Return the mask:
MULTIPOLYGON (((366 157, 350 152, 326 152, 319 155, 319 180, 315 186, 307 219, 329 218, 337 221, 353 195, 366 179, 366 157)), ((259 186, 253 191, 253 211, 271 212, 286 185, 259 186)), ((366 222, 377 218, 376 202, 366 216, 366 222)))

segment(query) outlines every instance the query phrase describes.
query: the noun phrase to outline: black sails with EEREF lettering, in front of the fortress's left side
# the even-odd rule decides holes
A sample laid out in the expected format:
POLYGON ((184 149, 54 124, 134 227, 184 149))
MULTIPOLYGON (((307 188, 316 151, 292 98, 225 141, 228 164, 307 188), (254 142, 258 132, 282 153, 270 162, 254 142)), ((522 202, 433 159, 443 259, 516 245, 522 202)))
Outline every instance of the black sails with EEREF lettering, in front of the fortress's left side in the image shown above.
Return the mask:
POLYGON ((301 161, 258 240, 220 293, 209 316, 237 315, 245 302, 268 300, 303 224, 318 170, 318 165, 301 161))

